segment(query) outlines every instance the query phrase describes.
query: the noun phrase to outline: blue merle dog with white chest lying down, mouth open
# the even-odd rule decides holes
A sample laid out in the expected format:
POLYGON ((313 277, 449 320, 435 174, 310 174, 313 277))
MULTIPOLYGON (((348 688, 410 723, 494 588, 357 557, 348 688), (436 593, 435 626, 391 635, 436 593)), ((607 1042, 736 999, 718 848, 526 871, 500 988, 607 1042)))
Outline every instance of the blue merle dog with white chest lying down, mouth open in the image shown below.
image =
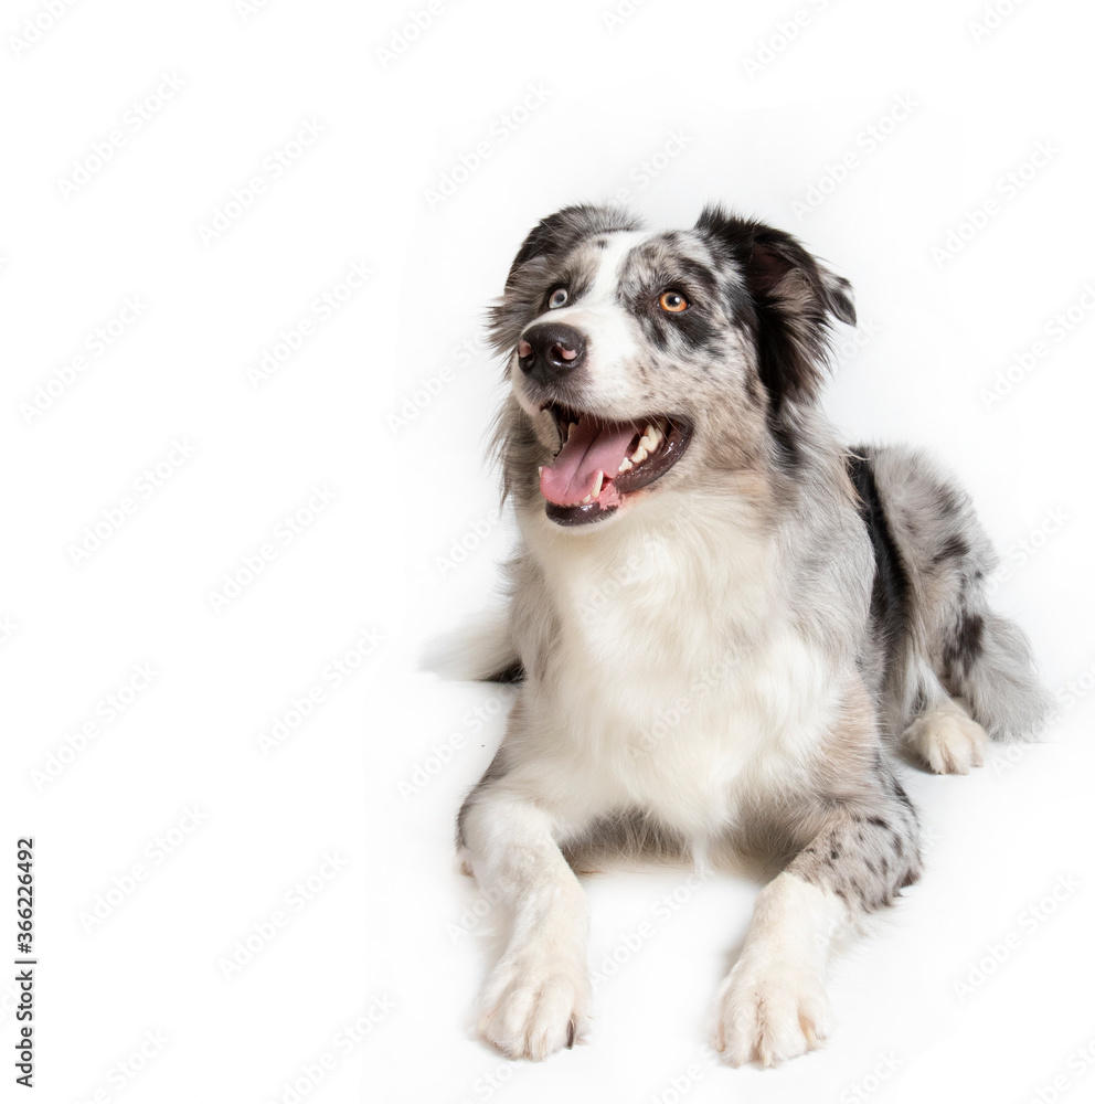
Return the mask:
POLYGON ((489 333, 520 544, 476 657, 517 696, 457 828, 512 912, 479 1023, 507 1055, 587 1029, 587 849, 774 857, 713 1045, 818 1045, 834 941, 921 872, 901 760, 967 773, 1049 715, 967 493, 819 408, 854 320, 848 280, 721 206, 672 232, 568 206, 518 251, 489 333))

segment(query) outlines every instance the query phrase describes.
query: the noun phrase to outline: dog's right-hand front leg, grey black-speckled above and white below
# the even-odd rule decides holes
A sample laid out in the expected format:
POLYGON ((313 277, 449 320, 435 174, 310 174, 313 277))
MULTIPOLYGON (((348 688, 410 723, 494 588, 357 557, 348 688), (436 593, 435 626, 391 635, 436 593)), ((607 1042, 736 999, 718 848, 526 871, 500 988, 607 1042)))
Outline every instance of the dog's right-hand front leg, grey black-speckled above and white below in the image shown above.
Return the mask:
POLYGON ((745 946, 723 983, 715 1049, 741 1065, 795 1058, 829 1030, 831 944, 860 913, 889 904, 919 873, 916 816, 887 772, 870 802, 830 811, 762 890, 745 946))

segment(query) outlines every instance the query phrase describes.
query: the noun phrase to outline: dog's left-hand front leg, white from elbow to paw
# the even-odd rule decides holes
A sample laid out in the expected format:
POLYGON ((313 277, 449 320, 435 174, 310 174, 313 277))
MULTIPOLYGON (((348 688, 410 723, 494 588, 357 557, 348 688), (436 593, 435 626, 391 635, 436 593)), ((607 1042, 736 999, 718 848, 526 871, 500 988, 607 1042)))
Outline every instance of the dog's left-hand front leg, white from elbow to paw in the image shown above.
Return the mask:
POLYGON ((545 1059, 581 1037, 591 996, 588 911, 559 822, 507 779, 472 793, 460 832, 483 892, 513 915, 482 994, 480 1033, 511 1058, 545 1059))

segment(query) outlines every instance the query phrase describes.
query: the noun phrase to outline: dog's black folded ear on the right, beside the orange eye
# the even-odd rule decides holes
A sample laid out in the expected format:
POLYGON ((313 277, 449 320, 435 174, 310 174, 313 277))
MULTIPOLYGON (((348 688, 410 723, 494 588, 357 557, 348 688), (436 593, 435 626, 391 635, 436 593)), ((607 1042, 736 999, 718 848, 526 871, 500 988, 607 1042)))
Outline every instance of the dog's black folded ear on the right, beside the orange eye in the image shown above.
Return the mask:
POLYGON ((755 317, 757 372, 774 408, 786 399, 811 401, 823 382, 830 330, 855 325, 851 285, 829 272, 790 234, 762 222, 703 209, 695 224, 730 257, 745 283, 755 317))

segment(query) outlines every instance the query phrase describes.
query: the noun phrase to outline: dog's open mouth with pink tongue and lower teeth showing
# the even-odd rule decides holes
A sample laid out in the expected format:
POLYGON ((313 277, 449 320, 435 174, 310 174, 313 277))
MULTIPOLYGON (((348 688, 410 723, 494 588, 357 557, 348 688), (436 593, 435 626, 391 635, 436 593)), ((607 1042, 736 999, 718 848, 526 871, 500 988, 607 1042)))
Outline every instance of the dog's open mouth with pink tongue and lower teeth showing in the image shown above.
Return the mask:
POLYGON ((560 526, 609 517, 625 496, 660 479, 692 436, 691 423, 676 414, 612 422, 557 403, 545 408, 555 420, 560 448, 540 469, 540 491, 548 517, 560 526))

